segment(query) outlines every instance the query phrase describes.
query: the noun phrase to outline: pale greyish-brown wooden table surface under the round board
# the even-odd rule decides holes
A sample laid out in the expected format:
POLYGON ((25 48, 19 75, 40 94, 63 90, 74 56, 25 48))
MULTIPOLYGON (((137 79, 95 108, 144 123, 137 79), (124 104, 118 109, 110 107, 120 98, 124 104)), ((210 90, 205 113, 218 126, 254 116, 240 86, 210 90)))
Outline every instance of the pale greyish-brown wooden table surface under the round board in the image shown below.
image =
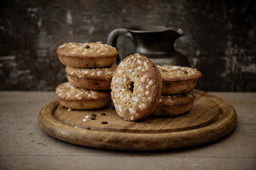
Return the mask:
POLYGON ((54 92, 0 92, 0 169, 256 169, 256 93, 211 93, 236 109, 233 133, 183 150, 101 150, 54 139, 38 112, 54 92))

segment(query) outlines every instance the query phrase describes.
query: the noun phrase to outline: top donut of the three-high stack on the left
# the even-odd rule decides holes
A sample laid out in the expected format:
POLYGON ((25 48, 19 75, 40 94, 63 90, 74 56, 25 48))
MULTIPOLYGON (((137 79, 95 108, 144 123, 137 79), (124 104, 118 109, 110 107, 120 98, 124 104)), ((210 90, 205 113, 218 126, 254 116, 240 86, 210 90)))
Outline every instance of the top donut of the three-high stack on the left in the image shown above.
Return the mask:
POLYGON ((118 52, 116 48, 102 42, 69 42, 58 47, 57 54, 63 65, 96 68, 113 65, 118 52))

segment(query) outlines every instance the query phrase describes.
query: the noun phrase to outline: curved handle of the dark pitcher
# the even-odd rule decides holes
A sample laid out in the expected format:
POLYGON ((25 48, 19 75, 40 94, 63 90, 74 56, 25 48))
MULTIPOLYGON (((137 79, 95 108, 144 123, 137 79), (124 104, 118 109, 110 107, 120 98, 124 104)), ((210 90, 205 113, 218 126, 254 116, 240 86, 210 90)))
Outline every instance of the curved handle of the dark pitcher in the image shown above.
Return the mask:
MULTIPOLYGON (((135 43, 134 37, 132 37, 131 32, 128 31, 128 29, 126 29, 126 28, 117 28, 117 29, 114 29, 113 31, 111 31, 108 34, 108 40, 107 40, 108 45, 111 45, 111 46, 117 48, 117 40, 118 40, 119 36, 128 37, 128 38, 131 39, 131 41, 133 43, 135 43)), ((118 54, 117 62, 119 63, 119 61, 121 61, 121 60, 122 59, 120 58, 120 56, 118 54)))

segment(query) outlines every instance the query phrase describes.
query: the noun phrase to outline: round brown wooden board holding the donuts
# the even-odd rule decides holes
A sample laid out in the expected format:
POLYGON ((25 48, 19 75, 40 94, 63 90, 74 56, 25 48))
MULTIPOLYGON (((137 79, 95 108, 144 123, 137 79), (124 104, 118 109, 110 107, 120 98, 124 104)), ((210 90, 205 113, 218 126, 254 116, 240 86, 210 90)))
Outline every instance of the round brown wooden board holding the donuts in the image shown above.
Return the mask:
POLYGON ((40 111, 38 123, 56 139, 114 150, 170 150, 206 144, 236 127, 236 111, 231 105, 212 94, 194 92, 195 104, 183 116, 149 116, 141 122, 128 122, 117 116, 112 106, 95 111, 67 111, 55 100, 40 111), (96 120, 83 122, 84 116, 91 113, 97 115, 96 120), (104 121, 108 124, 102 124, 104 121))

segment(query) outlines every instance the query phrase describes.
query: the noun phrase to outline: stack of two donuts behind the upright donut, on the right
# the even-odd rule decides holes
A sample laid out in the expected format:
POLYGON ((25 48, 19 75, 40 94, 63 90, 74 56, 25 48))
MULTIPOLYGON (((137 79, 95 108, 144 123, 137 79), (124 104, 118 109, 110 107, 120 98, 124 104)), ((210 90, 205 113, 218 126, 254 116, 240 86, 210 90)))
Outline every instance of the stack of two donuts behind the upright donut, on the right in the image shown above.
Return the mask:
POLYGON ((160 70, 163 88, 160 102, 153 116, 178 116, 189 111, 195 101, 193 89, 201 71, 177 66, 162 65, 160 70))

